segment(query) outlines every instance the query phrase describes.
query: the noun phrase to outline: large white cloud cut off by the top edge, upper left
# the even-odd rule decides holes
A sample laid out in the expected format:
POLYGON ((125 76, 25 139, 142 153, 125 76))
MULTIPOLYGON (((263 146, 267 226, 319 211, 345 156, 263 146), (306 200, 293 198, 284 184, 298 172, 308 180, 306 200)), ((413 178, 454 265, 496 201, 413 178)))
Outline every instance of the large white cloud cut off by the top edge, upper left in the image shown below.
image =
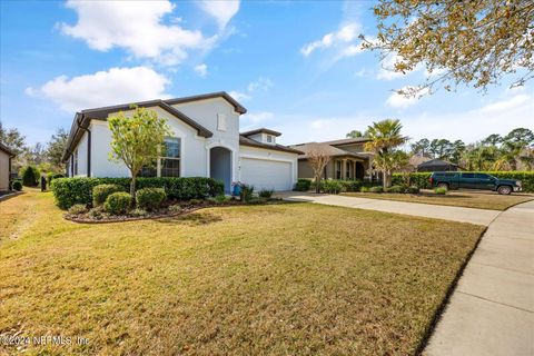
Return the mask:
POLYGON ((162 23, 175 8, 168 0, 69 0, 67 7, 78 13, 78 21, 73 26, 61 23, 61 31, 99 51, 122 48, 136 58, 175 66, 187 58, 188 50, 209 49, 217 40, 217 36, 205 38, 198 30, 162 23))

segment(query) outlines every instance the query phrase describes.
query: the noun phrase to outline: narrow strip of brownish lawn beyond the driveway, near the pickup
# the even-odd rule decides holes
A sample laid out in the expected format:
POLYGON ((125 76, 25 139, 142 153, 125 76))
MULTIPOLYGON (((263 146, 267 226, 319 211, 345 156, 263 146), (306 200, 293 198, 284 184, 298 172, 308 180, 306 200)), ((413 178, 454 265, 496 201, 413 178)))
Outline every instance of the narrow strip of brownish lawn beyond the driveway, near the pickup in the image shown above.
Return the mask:
POLYGON ((433 205, 447 205, 465 208, 478 208, 491 210, 506 210, 511 206, 534 199, 534 195, 502 196, 496 192, 468 192, 448 191, 447 195, 436 195, 432 190, 417 195, 412 194, 376 194, 376 192, 344 192, 345 196, 385 200, 399 200, 408 202, 423 202, 433 205))

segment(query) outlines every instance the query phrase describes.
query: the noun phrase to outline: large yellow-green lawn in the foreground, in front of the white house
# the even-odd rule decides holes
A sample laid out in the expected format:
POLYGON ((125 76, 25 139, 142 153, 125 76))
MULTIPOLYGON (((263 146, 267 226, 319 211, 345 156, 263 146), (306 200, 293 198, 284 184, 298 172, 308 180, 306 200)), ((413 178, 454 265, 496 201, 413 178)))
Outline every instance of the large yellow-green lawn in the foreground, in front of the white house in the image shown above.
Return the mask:
POLYGON ((6 212, 0 336, 73 338, 30 355, 413 354, 483 231, 313 204, 82 225, 37 191, 6 212))

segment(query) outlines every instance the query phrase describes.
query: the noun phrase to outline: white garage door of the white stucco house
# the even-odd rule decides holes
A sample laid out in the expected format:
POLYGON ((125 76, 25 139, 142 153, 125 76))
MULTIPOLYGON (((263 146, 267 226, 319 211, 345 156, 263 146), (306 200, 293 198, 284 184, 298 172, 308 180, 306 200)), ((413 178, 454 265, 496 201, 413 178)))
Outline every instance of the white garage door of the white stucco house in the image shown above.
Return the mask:
POLYGON ((291 164, 241 158, 241 181, 253 185, 255 190, 291 190, 291 164))

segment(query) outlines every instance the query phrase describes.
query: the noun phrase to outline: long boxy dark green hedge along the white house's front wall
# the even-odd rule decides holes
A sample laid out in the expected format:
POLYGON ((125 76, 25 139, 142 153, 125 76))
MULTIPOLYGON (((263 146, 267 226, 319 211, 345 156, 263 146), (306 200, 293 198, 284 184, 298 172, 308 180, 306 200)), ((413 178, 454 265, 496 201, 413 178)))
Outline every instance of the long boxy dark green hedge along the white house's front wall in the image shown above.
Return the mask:
MULTIPOLYGON (((130 189, 130 178, 58 178, 52 180, 52 191, 59 208, 68 209, 75 204, 90 205, 92 188, 98 185, 115 184, 125 191, 130 189)), ((167 197, 177 200, 205 199, 225 191, 225 185, 212 178, 137 178, 136 189, 164 188, 167 197)))

